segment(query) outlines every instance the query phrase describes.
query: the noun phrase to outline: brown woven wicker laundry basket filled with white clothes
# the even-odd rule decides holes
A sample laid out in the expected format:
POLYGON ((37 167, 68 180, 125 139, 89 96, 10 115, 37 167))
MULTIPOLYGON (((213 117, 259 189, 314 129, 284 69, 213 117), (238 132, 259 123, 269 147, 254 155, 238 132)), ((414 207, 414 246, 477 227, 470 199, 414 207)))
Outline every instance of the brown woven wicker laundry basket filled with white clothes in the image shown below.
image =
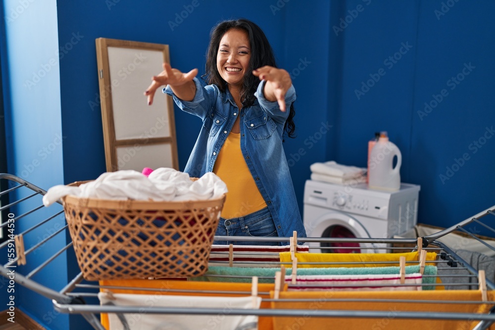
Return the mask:
POLYGON ((185 202, 62 200, 79 267, 96 281, 203 275, 225 195, 185 202))

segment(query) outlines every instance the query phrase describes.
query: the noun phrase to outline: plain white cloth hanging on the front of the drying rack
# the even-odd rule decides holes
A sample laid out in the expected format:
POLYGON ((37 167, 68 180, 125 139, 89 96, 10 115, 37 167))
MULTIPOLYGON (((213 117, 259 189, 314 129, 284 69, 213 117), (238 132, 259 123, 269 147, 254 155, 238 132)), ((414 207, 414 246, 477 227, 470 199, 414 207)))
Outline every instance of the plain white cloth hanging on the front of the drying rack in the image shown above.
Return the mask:
POLYGON ((98 293, 101 305, 113 306, 156 306, 187 308, 218 308, 219 313, 212 315, 187 315, 186 317, 152 313, 110 313, 110 330, 142 329, 204 329, 205 325, 218 330, 257 329, 258 317, 254 315, 228 315, 231 309, 258 309, 261 298, 246 297, 206 297, 181 295, 151 295, 114 293, 112 299, 103 292, 98 293), (222 313, 223 311, 223 313, 222 313))

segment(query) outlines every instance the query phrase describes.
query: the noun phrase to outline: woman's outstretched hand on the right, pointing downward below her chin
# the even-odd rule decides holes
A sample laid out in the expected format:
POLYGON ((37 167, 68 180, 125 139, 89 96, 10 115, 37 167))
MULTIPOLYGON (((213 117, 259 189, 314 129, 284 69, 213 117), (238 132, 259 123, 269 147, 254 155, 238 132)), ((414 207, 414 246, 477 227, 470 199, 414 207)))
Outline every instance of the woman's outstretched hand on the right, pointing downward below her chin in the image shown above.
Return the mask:
POLYGON ((265 65, 252 72, 253 75, 265 80, 263 93, 268 101, 279 103, 281 111, 286 111, 285 94, 292 85, 289 72, 284 69, 277 69, 273 66, 265 65))

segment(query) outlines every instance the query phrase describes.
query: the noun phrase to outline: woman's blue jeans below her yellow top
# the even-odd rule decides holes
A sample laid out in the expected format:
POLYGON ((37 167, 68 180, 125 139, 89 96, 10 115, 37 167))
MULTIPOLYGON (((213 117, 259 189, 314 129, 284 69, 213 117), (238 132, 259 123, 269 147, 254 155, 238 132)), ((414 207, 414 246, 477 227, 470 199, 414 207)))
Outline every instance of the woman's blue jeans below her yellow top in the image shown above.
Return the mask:
MULTIPOLYGON (((239 218, 220 218, 216 236, 252 236, 277 237, 277 228, 273 223, 268 207, 239 218)), ((280 242, 228 241, 215 240, 213 244, 234 245, 279 245, 280 242)))

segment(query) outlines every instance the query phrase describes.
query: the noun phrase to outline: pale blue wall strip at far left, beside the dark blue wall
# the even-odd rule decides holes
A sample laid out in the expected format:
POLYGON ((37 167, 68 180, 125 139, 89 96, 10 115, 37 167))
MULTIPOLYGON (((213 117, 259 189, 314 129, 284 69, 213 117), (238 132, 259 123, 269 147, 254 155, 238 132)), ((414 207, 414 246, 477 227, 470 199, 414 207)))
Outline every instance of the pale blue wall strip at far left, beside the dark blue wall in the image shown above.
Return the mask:
MULTIPOLYGON (((46 189, 63 182, 56 2, 5 0, 2 12, 7 168, 9 173, 46 189)), ((22 208, 11 211, 18 216, 41 204, 39 198, 30 205, 23 203, 22 208)), ((48 211, 41 209, 19 220, 15 233, 20 234, 51 215, 48 211)), ((63 217, 58 225, 60 221, 64 221, 63 217)), ((52 222, 24 235, 26 248, 53 233, 54 225, 52 222)), ((65 242, 65 236, 56 236, 36 253, 28 255, 28 264, 16 271, 27 274, 39 265, 39 260, 46 260, 65 246, 65 242)), ((43 270, 33 280, 61 289, 67 283, 65 255, 56 258, 51 267, 57 272, 43 270)), ((3 290, 1 288, 2 296, 3 290)), ((15 302, 17 308, 39 322, 49 324, 51 329, 68 328, 67 315, 54 315, 50 299, 16 285, 15 302)))

